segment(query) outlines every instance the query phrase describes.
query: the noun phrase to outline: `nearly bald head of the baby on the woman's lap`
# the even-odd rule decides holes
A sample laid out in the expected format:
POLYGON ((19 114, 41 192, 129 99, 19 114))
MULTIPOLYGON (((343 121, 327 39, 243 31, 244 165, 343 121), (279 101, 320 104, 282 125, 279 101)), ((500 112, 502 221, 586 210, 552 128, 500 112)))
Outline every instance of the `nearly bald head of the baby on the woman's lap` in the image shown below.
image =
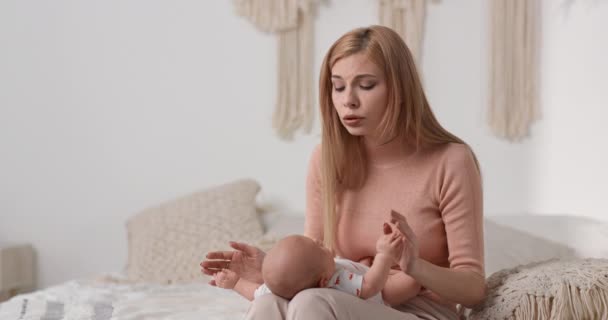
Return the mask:
POLYGON ((334 271, 333 252, 322 242, 301 235, 279 240, 262 265, 268 289, 286 299, 304 289, 325 287, 334 271))

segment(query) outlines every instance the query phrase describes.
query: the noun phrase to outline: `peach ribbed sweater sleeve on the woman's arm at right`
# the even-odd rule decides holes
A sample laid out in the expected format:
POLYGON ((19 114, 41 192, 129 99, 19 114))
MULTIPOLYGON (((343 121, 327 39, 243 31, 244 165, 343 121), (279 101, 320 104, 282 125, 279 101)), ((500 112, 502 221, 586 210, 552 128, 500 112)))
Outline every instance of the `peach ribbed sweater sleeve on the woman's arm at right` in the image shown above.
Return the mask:
POLYGON ((438 180, 450 268, 484 276, 481 175, 468 146, 452 144, 448 148, 438 180))

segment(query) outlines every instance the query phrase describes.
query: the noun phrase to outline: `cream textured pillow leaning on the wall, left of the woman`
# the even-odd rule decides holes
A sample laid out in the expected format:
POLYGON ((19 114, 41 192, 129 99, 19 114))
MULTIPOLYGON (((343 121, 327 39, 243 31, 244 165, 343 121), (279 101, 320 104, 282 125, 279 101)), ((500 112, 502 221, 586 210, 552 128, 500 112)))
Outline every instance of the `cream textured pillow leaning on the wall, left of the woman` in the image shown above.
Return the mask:
POLYGON ((262 236, 255 209, 260 190, 239 180, 149 208, 127 221, 127 276, 162 283, 206 280, 199 263, 228 241, 254 243, 262 236))

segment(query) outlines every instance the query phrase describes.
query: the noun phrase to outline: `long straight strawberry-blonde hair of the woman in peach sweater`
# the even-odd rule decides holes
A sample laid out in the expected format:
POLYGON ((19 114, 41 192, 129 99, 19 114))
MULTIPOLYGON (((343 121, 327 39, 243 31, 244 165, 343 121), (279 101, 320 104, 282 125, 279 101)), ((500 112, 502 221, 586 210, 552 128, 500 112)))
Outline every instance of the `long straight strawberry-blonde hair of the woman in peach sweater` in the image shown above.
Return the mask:
MULTIPOLYGON (((342 126, 332 101, 332 67, 338 60, 357 53, 365 54, 386 76, 388 106, 379 128, 385 141, 404 138, 404 142, 406 139, 414 142, 416 148, 450 142, 466 145, 435 118, 412 54, 399 34, 387 27, 370 26, 354 29, 340 37, 325 55, 319 77, 323 241, 330 248, 334 248, 338 220, 336 204, 342 192, 362 187, 367 178, 363 140, 350 135, 342 126)), ((479 169, 474 154, 473 158, 479 169)))

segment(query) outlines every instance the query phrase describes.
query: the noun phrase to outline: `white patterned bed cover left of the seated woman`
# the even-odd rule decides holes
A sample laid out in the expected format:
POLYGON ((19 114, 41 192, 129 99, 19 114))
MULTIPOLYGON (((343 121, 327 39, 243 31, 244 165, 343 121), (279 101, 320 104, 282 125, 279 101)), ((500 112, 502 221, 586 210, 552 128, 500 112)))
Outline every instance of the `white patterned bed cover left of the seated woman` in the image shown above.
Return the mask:
POLYGON ((13 297, 0 319, 242 319, 249 301, 233 291, 197 284, 127 284, 120 276, 75 280, 13 297))

